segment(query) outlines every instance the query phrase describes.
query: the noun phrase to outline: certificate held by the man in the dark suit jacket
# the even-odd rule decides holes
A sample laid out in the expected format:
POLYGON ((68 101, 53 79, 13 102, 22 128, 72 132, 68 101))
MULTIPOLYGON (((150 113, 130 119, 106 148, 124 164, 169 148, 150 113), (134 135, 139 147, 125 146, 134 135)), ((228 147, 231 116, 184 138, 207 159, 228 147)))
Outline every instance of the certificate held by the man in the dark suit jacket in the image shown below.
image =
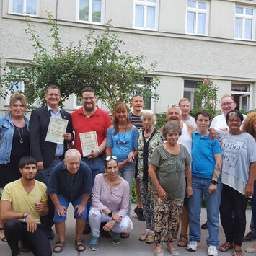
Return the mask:
POLYGON ((63 144, 63 134, 66 133, 66 127, 68 123, 69 120, 50 117, 50 123, 48 126, 45 141, 63 144))

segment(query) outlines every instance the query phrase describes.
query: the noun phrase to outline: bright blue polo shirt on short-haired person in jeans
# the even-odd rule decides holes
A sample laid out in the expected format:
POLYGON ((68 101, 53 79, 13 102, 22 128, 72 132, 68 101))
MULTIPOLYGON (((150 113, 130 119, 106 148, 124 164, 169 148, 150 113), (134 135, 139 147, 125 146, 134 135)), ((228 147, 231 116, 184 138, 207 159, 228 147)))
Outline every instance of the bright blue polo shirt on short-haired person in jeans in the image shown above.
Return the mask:
POLYGON ((221 154, 218 141, 210 141, 210 133, 201 137, 198 131, 192 133, 192 175, 200 178, 211 179, 215 167, 215 154, 221 154))

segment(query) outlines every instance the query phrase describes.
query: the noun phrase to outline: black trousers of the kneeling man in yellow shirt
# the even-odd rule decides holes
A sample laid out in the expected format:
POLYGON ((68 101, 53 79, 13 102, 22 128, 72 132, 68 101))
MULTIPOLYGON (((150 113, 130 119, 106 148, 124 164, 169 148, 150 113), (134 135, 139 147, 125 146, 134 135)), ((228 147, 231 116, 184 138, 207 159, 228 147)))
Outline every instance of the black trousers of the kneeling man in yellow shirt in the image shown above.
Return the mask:
POLYGON ((37 230, 34 233, 30 233, 27 231, 27 224, 17 219, 9 219, 4 225, 4 232, 12 250, 12 256, 19 254, 19 239, 26 242, 26 247, 28 245, 35 256, 52 255, 50 242, 40 224, 37 224, 37 230))

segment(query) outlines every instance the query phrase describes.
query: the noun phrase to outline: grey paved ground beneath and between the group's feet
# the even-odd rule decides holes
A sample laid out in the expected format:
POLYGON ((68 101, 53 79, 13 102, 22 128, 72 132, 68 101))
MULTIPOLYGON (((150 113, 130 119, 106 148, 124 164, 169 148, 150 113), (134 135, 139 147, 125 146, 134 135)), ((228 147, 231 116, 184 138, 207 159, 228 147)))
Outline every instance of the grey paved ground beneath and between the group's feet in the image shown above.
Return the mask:
MULTIPOLYGON (((135 205, 133 205, 133 208, 135 205)), ((145 229, 145 222, 138 221, 136 219, 135 213, 131 213, 131 219, 133 220, 133 231, 131 232, 131 236, 128 239, 122 239, 121 244, 112 244, 110 238, 103 238, 100 237, 99 242, 99 250, 96 252, 92 252, 88 249, 88 243, 90 239, 92 238, 92 234, 88 234, 86 236, 83 236, 84 241, 87 245, 87 250, 84 252, 76 252, 76 249, 74 247, 74 219, 73 219, 73 208, 71 204, 69 205, 69 216, 67 220, 66 225, 66 244, 63 249, 63 252, 59 254, 60 256, 71 256, 71 255, 88 255, 88 256, 99 256, 99 255, 105 255, 105 256, 148 256, 153 255, 153 248, 154 244, 146 244, 145 242, 140 242, 138 240, 139 235, 144 231, 145 229)), ((247 211, 247 220, 250 221, 251 218, 251 211, 247 211)), ((202 208, 202 216, 201 216, 202 223, 206 221, 206 209, 202 208)), ((247 223, 247 229, 246 231, 249 231, 249 224, 247 223)), ((206 237, 208 237, 208 231, 202 230, 202 239, 200 243, 200 247, 196 252, 188 252, 185 248, 177 247, 180 251, 180 255, 184 256, 198 256, 198 255, 207 255, 207 245, 206 245, 206 237)), ((224 242, 224 231, 222 227, 220 226, 219 231, 219 239, 220 242, 224 242)), ((252 246, 256 243, 256 240, 254 242, 247 242, 242 244, 242 249, 244 250, 247 247, 252 246)), ((51 244, 53 246, 54 240, 51 241, 51 244)), ((169 255, 169 252, 165 250, 165 246, 163 247, 165 251, 165 255, 169 255)), ((229 256, 231 255, 231 250, 229 252, 219 252, 220 256, 229 256)), ((0 255, 6 256, 11 255, 11 251, 9 250, 8 244, 4 242, 0 242, 0 255)), ((32 253, 22 253, 22 256, 31 256, 32 253)), ((57 255, 53 253, 53 255, 57 255)), ((256 254, 250 254, 247 252, 244 252, 244 256, 247 255, 256 255, 256 254)))

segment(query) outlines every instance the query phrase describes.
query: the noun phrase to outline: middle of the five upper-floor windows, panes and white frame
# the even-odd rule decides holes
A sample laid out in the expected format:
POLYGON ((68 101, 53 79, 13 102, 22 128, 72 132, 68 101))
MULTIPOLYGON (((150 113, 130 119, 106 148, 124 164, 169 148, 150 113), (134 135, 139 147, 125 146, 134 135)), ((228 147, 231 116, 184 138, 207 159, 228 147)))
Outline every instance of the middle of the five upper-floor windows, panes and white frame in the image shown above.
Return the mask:
POLYGON ((157 30, 159 0, 134 0, 133 27, 157 30))

